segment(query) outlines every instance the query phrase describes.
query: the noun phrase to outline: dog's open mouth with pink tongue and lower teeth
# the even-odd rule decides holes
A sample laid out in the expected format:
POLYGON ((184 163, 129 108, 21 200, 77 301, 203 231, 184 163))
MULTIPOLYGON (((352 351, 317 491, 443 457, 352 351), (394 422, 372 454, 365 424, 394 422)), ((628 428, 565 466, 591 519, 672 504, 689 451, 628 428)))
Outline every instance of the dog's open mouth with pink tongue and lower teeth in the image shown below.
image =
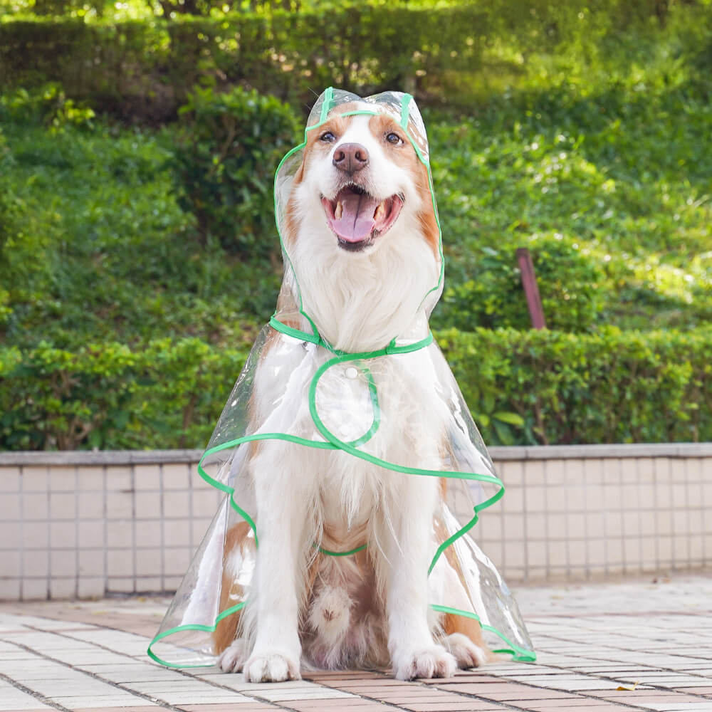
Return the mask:
POLYGON ((403 196, 379 200, 360 186, 347 185, 333 200, 322 197, 321 203, 339 247, 359 252, 394 224, 403 207, 403 196))

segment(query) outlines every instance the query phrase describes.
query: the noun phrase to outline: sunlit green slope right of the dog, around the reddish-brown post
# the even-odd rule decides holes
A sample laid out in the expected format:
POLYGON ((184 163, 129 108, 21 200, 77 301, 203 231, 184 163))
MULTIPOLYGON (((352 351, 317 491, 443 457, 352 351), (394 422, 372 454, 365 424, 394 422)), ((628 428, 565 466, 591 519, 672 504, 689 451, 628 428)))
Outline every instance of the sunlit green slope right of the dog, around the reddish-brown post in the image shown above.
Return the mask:
POLYGON ((694 41, 682 45, 674 27, 654 46, 617 36, 610 57, 589 64, 562 53, 566 77, 560 68, 543 86, 522 80, 474 115, 429 112, 449 258, 438 327, 526 325, 518 247, 533 252, 554 328, 712 318, 712 157, 700 150, 712 25, 689 30, 694 41), (553 282, 538 251, 559 237, 553 282))

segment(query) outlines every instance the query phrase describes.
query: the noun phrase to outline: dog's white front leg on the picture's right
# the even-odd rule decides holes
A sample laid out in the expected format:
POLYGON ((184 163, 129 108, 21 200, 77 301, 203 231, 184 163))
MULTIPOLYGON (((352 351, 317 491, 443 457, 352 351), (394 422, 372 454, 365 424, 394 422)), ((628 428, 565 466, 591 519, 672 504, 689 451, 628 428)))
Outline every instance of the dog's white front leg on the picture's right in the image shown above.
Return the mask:
POLYGON ((385 562, 388 649, 399 680, 451 677, 454 657, 434 642, 428 622, 428 565, 438 480, 407 475, 389 506, 385 562))

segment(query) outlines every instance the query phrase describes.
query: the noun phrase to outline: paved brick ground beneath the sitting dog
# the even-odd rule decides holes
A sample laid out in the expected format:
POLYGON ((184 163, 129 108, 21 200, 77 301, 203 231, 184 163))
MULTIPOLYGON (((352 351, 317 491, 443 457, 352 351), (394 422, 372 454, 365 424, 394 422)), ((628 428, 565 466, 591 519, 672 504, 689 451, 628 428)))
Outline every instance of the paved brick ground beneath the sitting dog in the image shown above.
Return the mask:
POLYGON ((0 711, 712 712, 712 572, 520 588, 539 659, 453 679, 375 672, 248 685, 214 669, 164 669, 145 654, 166 600, 0 604, 0 711))

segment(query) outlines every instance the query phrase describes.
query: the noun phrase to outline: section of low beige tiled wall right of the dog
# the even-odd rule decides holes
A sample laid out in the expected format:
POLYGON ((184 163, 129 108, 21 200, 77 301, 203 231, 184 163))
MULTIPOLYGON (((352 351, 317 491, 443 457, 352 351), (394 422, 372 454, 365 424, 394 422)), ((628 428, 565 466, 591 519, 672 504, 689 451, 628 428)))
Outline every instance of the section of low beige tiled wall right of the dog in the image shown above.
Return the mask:
POLYGON ((497 463, 478 542, 508 580, 712 570, 712 446, 597 448, 497 463))

